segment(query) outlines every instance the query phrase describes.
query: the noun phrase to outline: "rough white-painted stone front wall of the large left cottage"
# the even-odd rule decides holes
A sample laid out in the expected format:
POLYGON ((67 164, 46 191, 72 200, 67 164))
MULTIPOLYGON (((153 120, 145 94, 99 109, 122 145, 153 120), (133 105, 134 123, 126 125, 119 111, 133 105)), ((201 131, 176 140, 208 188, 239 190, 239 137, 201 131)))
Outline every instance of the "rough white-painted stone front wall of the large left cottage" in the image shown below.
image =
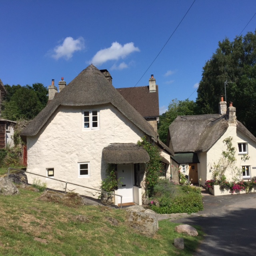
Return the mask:
MULTIPOLYGON (((144 136, 137 126, 111 104, 94 107, 60 106, 36 136, 27 137, 28 172, 46 175, 54 168, 54 178, 100 189, 106 178, 102 150, 110 143, 137 143, 144 136), (100 129, 83 130, 82 111, 100 111, 100 129), (90 162, 90 176, 78 178, 78 162, 90 162)), ((33 183, 28 176, 28 182, 33 183)), ((40 178, 49 188, 64 190, 65 184, 40 178)), ((68 184, 68 191, 98 197, 97 192, 68 184)))

